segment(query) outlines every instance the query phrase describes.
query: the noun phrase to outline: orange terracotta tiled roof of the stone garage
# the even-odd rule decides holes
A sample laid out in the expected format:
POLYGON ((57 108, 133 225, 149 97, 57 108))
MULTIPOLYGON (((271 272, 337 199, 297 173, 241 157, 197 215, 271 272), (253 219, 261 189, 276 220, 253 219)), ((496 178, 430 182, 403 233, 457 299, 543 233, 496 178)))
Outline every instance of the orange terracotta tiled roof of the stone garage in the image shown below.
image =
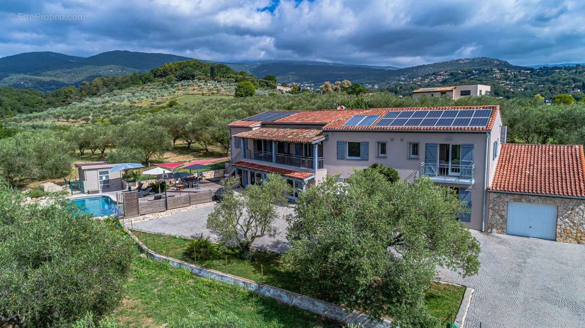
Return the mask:
POLYGON ((490 190, 585 197, 583 145, 501 145, 490 190))

